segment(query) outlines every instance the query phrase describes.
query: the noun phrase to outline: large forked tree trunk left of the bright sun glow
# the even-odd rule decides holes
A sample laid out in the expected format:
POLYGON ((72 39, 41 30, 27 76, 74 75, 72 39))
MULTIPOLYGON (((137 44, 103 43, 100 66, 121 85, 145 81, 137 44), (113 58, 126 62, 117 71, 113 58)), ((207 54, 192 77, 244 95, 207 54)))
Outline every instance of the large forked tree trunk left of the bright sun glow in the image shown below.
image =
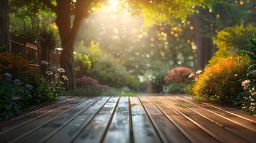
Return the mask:
POLYGON ((56 0, 56 5, 50 0, 39 0, 44 2, 57 15, 55 23, 60 33, 61 47, 61 67, 66 69, 67 89, 75 88, 75 71, 74 71, 74 43, 79 27, 84 17, 88 17, 89 11, 97 4, 98 1, 71 1, 56 0), (72 14, 75 15, 72 23, 72 14))

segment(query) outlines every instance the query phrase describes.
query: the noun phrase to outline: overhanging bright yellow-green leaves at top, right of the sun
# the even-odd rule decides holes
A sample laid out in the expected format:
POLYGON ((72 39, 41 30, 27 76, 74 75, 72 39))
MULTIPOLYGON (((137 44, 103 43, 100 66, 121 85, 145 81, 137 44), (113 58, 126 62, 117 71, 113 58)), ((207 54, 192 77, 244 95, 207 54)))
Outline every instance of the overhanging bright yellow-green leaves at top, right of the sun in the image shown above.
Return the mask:
POLYGON ((221 4, 224 1, 128 1, 134 15, 143 14, 146 27, 154 24, 174 24, 176 18, 185 21, 188 15, 198 13, 195 7, 211 8, 213 4, 221 4))

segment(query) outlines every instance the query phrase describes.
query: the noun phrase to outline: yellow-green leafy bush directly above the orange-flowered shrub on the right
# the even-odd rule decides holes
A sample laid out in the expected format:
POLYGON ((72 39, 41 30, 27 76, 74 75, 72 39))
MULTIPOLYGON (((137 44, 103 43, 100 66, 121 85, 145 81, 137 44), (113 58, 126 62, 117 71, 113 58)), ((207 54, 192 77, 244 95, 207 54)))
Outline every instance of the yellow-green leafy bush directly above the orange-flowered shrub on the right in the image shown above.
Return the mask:
POLYGON ((239 54, 238 49, 248 50, 249 45, 247 39, 251 37, 253 32, 254 27, 250 24, 247 27, 243 27, 243 24, 235 27, 227 27, 218 32, 217 37, 213 38, 218 51, 209 60, 207 66, 212 66, 223 58, 235 57, 239 54))

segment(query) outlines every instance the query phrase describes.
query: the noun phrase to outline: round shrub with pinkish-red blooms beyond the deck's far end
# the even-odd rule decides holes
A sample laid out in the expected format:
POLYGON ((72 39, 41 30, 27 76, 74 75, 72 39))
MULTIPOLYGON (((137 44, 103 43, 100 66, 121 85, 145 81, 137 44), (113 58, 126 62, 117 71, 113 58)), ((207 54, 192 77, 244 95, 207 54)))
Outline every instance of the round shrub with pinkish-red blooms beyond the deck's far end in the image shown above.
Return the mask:
POLYGON ((163 91, 165 93, 184 93, 184 88, 192 80, 189 75, 192 74, 192 70, 187 67, 172 68, 167 71, 167 75, 164 77, 165 86, 163 91))

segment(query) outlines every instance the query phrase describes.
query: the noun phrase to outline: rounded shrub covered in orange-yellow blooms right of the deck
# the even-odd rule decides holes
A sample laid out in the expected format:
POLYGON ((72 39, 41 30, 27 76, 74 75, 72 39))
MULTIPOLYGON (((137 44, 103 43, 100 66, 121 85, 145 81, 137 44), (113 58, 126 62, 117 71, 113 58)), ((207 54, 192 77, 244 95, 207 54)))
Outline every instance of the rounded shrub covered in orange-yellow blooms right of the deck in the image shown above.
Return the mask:
POLYGON ((245 79, 247 57, 226 58, 208 67, 192 86, 199 100, 233 101, 242 92, 240 79, 245 79))

